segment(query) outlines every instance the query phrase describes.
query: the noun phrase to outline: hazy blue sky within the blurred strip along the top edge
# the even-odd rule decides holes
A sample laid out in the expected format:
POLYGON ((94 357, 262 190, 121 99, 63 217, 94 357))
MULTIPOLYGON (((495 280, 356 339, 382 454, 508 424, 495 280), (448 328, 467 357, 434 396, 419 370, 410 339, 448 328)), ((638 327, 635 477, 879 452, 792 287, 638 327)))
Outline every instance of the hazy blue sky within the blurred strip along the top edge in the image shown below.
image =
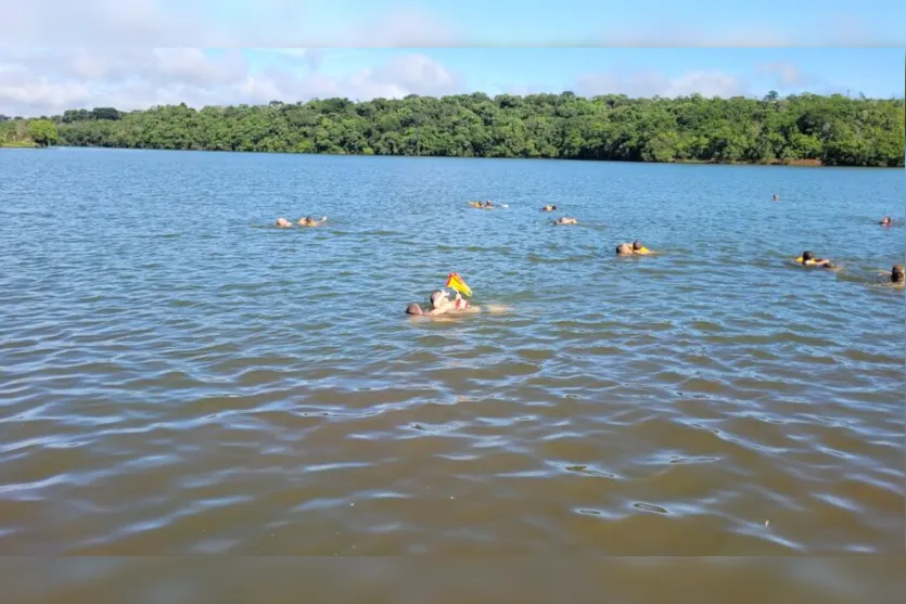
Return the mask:
MULTIPOLYGON (((184 7, 187 0, 166 0, 184 7)), ((190 1, 190 0, 189 0, 190 1)), ((191 3, 191 1, 190 1, 191 3)), ((421 12, 457 29, 467 46, 600 44, 609 35, 681 28, 732 38, 756 31, 783 36, 784 44, 835 46, 846 35, 855 43, 904 46, 906 9, 893 0, 848 4, 818 0, 760 0, 748 4, 717 0, 677 2, 647 0, 202 0, 222 23, 273 27, 310 23, 332 35, 349 22, 374 23, 393 12, 421 12), (835 8, 840 7, 840 8, 835 8)), ((310 31, 309 33, 314 33, 310 31)), ((648 43, 658 43, 652 36, 648 43)), ((669 42, 668 42, 669 43, 669 42)), ((694 43, 694 42, 689 42, 694 43)))

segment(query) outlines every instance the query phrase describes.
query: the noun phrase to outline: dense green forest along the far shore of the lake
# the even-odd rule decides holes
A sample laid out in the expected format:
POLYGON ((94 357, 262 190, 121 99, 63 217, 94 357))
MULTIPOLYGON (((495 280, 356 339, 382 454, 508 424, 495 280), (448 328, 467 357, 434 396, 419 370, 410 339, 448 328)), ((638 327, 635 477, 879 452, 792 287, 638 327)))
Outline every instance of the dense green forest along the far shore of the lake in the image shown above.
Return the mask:
POLYGON ((904 101, 483 93, 0 116, 0 144, 903 166, 904 101))

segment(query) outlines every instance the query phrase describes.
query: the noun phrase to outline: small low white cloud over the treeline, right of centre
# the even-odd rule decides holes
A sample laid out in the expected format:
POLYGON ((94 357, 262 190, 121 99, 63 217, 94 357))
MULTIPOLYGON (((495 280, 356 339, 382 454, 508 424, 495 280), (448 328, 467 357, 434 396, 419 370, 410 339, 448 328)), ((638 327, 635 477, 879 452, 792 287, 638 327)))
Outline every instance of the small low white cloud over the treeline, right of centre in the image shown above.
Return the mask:
POLYGON ((576 78, 575 92, 583 97, 626 94, 628 97, 737 97, 745 93, 745 81, 724 72, 691 70, 668 77, 656 70, 623 75, 616 72, 589 73, 576 78))

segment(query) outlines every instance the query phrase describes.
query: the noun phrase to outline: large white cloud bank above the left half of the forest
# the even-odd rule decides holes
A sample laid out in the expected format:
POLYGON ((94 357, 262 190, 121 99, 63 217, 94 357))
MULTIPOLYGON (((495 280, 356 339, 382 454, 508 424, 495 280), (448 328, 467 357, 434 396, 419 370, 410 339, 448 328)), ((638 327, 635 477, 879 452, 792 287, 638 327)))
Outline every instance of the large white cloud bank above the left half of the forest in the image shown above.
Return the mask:
MULTIPOLYGON (((305 61, 309 49, 292 55, 305 61)), ((114 106, 129 111, 157 104, 201 107, 311 98, 463 91, 462 79, 421 53, 392 56, 348 77, 276 66, 251 69, 241 51, 216 55, 194 48, 51 49, 0 51, 0 114, 50 115, 67 108, 114 106)))

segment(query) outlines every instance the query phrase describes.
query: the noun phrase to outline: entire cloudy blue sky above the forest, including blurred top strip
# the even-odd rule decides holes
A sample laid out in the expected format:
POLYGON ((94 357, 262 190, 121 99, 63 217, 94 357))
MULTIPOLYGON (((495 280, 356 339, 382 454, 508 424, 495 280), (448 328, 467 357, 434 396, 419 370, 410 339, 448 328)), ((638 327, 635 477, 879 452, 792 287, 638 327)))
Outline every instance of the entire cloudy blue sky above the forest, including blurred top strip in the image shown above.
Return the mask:
POLYGON ((0 114, 476 90, 903 97, 899 3, 729 4, 4 0, 0 114))

